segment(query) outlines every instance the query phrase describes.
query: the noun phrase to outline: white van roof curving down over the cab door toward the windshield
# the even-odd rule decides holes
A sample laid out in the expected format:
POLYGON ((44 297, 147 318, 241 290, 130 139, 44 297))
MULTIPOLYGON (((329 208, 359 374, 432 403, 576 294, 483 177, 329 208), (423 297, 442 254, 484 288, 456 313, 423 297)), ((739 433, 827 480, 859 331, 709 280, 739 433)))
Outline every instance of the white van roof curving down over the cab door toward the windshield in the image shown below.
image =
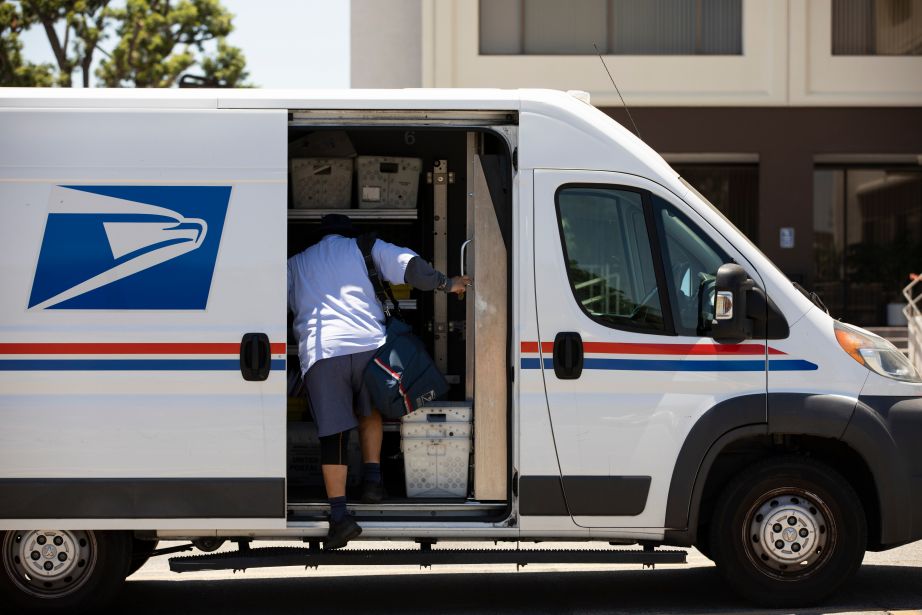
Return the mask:
POLYGON ((619 171, 647 177, 680 196, 687 191, 646 143, 592 105, 559 90, 0 88, 0 111, 4 108, 514 111, 521 169, 619 171))

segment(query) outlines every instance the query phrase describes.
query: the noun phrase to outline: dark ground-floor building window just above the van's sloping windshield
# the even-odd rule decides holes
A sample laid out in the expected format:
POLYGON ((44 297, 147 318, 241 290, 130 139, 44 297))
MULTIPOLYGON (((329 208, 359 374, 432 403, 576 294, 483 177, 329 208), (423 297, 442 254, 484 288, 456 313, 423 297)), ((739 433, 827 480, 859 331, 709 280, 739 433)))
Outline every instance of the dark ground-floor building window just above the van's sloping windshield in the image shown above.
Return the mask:
POLYGON ((753 243, 759 243, 758 165, 673 163, 672 168, 753 243))

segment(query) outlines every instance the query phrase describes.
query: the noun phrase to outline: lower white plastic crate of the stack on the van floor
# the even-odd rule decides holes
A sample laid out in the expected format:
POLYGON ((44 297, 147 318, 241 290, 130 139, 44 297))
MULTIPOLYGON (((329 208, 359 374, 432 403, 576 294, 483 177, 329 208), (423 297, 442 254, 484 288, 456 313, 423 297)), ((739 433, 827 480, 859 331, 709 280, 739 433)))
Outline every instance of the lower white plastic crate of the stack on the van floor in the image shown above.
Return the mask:
POLYGON ((405 438, 400 450, 407 497, 467 497, 469 438, 405 438))

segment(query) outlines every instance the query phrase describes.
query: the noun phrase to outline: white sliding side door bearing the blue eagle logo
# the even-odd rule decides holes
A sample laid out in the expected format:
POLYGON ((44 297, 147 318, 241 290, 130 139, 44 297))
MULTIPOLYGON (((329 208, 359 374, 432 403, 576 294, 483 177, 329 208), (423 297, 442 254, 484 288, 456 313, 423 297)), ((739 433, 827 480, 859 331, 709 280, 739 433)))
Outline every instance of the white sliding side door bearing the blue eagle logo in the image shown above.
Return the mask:
POLYGON ((0 528, 285 526, 286 121, 0 110, 0 528))

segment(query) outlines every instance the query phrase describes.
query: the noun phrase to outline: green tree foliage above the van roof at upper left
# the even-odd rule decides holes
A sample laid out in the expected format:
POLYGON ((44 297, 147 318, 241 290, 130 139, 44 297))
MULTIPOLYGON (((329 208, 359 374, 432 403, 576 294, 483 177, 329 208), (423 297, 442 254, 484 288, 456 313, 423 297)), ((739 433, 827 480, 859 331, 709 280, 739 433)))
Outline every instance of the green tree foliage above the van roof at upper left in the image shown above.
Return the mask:
POLYGON ((73 85, 79 71, 89 87, 98 60, 95 76, 108 87, 169 87, 195 67, 213 85, 245 86, 243 52, 225 41, 232 18, 220 0, 0 0, 0 85, 52 80, 51 66, 22 59, 18 35, 34 25, 54 52, 56 85, 73 85))

